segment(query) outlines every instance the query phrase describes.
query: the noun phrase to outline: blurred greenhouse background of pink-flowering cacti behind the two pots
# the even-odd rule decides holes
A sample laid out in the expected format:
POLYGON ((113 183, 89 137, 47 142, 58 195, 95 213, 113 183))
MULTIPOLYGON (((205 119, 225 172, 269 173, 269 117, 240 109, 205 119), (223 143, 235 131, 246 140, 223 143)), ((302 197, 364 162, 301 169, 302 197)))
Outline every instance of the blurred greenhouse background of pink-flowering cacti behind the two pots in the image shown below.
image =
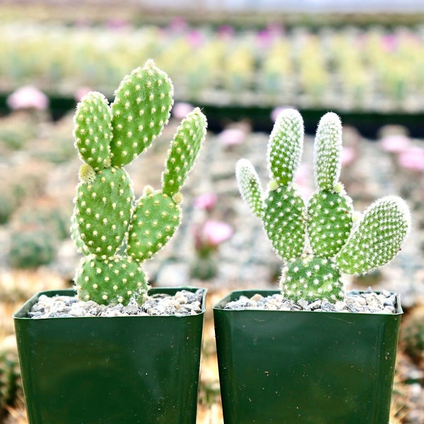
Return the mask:
POLYGON ((131 164, 158 187, 167 146, 193 106, 208 137, 184 188, 184 219, 146 264, 156 286, 209 290, 198 423, 221 424, 211 306, 235 288, 276 288, 281 262, 242 203, 235 163, 267 180, 266 143, 283 107, 305 119, 296 175, 314 189, 312 142, 327 111, 343 121, 341 179, 355 208, 399 194, 413 230, 399 257, 352 288, 401 294, 391 424, 424 423, 424 3, 420 0, 0 1, 0 422, 26 423, 11 314, 37 290, 72 286, 69 237, 80 162, 72 117, 88 90, 110 100, 152 58, 175 85, 162 136, 131 164))

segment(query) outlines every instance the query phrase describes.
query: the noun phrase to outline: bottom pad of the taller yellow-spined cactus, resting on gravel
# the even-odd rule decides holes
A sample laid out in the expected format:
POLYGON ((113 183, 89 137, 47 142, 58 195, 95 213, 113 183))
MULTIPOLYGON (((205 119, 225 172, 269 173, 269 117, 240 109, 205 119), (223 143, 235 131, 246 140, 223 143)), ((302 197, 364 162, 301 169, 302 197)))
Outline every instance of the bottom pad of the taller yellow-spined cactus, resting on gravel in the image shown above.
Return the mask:
POLYGON ((128 305, 131 298, 141 304, 148 292, 146 274, 129 257, 83 257, 75 283, 81 300, 93 300, 99 305, 128 305))

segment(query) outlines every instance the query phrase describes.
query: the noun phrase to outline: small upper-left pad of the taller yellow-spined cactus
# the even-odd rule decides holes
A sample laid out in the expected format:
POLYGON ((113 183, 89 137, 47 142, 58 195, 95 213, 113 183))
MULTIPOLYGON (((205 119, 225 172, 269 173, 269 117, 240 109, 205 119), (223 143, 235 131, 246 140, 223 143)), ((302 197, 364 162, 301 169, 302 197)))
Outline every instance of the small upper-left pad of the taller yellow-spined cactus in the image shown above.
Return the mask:
POLYGON ((102 93, 87 93, 78 103, 73 116, 73 137, 81 160, 102 170, 109 157, 112 139, 112 113, 102 93))

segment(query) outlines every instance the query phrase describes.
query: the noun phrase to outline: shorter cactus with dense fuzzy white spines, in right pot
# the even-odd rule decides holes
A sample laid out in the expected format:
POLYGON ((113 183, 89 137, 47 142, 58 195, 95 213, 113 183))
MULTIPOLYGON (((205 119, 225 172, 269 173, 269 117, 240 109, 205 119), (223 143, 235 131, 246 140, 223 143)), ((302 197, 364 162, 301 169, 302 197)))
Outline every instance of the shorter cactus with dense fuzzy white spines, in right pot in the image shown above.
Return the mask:
POLYGON ((343 300, 342 273, 359 275, 387 264, 401 249, 410 227, 403 199, 386 196, 372 204, 359 222, 341 182, 342 126, 333 112, 319 121, 314 141, 317 190, 305 204, 293 177, 303 147, 303 120, 296 110, 276 119, 268 146, 270 182, 263 192, 253 165, 236 165, 242 199, 262 220, 278 257, 285 261, 281 291, 285 298, 343 300))

